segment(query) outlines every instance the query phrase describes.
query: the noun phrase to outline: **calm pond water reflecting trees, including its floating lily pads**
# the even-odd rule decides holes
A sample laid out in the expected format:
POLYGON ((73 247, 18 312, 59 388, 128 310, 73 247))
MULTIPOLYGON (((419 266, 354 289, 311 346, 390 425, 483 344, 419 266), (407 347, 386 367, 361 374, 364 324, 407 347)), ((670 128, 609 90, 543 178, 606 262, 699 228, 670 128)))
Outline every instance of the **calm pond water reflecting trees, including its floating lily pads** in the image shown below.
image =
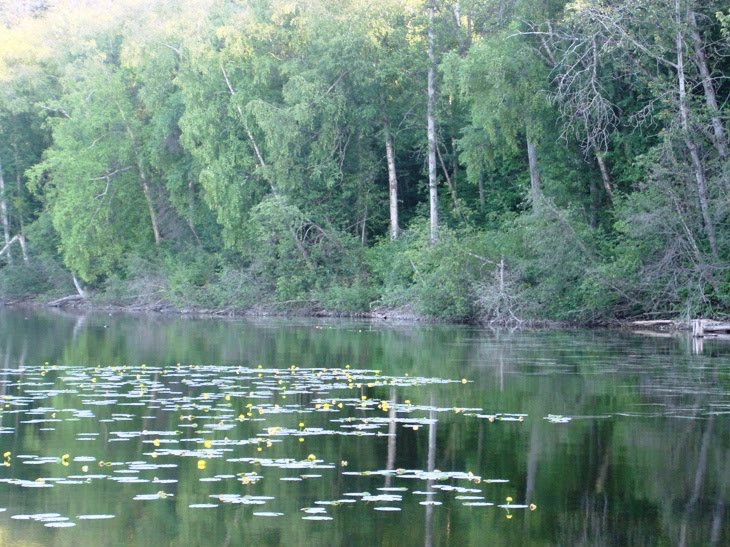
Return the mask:
POLYGON ((0 545, 730 542, 727 343, 0 310, 0 369, 0 545))

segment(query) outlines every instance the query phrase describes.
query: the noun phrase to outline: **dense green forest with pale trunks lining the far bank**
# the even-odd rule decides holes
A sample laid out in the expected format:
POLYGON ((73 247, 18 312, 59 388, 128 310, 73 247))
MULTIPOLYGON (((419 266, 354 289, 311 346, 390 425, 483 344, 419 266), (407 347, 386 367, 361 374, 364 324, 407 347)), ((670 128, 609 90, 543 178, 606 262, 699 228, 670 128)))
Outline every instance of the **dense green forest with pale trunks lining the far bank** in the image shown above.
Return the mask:
POLYGON ((0 303, 727 317, 729 55, 713 0, 2 0, 0 303))

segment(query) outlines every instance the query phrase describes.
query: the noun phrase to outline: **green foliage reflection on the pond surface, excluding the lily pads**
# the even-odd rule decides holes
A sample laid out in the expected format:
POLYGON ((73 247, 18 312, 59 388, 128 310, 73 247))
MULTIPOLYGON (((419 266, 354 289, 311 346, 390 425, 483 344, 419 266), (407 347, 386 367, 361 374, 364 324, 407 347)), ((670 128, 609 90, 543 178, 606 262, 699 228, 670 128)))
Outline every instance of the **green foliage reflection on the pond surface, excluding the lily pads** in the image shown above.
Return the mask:
MULTIPOLYGON (((132 379, 134 373, 142 373, 140 363, 147 363, 150 369, 164 366, 170 370, 175 369, 176 363, 183 363, 182 375, 158 378, 164 382, 184 379, 195 383, 199 372, 190 366, 206 363, 229 365, 232 370, 243 365, 253 367, 254 371, 261 363, 266 368, 280 369, 280 376, 285 377, 291 374, 292 362, 302 368, 332 369, 350 364, 349 370, 379 369, 382 376, 405 377, 407 373, 410 378, 457 380, 433 386, 433 389, 398 387, 395 394, 390 385, 373 385, 372 388, 363 385, 362 392, 345 389, 333 396, 354 397, 358 401, 360 393, 369 401, 392 401, 395 396, 401 404, 407 399, 413 405, 445 407, 443 412, 436 413, 438 469, 471 471, 483 479, 509 479, 510 482, 503 485, 482 481, 479 487, 484 490, 485 499, 490 501, 510 496, 521 502, 532 493, 532 501, 538 509, 525 515, 525 519, 530 519, 527 531, 519 526, 504 528, 502 511, 476 511, 476 508, 464 511, 466 508, 452 507, 449 519, 454 528, 449 538, 460 544, 473 544, 484 538, 494 542, 507 538, 521 543, 526 537, 532 542, 546 544, 610 543, 614 540, 622 544, 676 543, 683 528, 688 542, 699 544, 709 543, 717 519, 724 518, 718 504, 727 492, 725 455, 730 436, 727 424, 719 416, 709 415, 722 408, 728 387, 723 380, 728 356, 722 346, 708 347, 707 351, 712 355, 703 357, 690 356, 681 340, 600 331, 492 333, 458 327, 374 327, 356 322, 213 322, 165 317, 109 317, 106 314, 77 318, 47 312, 28 315, 7 311, 0 319, 3 322, 0 360, 8 362, 11 371, 16 370, 14 363, 27 371, 29 365, 38 367, 49 361, 43 381, 54 387, 63 385, 60 383, 62 373, 50 369, 54 363, 90 366, 91 371, 97 364, 107 364, 101 370, 112 364, 129 364, 126 374, 132 379), (460 378, 467 378, 469 383, 462 384, 458 381, 460 378), (431 402, 431 393, 435 402, 431 402), (524 422, 490 422, 470 416, 468 411, 456 412, 452 407, 457 410, 480 408, 485 415, 518 412, 527 417, 524 422), (573 419, 569 423, 549 423, 543 420, 548 414, 572 416, 573 419), (690 503, 693 498, 695 501, 690 503)), ((90 380, 91 377, 84 383, 90 386, 90 380)), ((21 377, 21 381, 31 380, 21 377)), ((96 385, 103 388, 100 376, 96 385)), ((256 400, 247 397, 247 390, 236 395, 235 385, 240 387, 242 384, 176 384, 175 390, 198 398, 209 392, 210 400, 213 400, 213 394, 222 397, 223 393, 232 393, 228 401, 232 406, 226 407, 225 413, 235 417, 245 415, 249 410, 247 402, 256 404, 256 400)), ((15 395, 13 387, 2 386, 15 395)), ((137 386, 133 381, 129 389, 137 386)), ((21 392, 36 389, 26 384, 21 392)), ((210 423, 218 423, 225 416, 216 418, 215 412, 206 413, 202 407, 190 411, 163 411, 164 399, 171 396, 175 395, 149 392, 150 408, 83 405, 84 410, 93 409, 95 419, 92 422, 63 421, 55 425, 53 432, 40 431, 38 424, 16 423, 16 418, 22 418, 11 413, 4 413, 2 425, 20 428, 13 454, 25 452, 60 458, 68 453, 71 456, 69 469, 83 463, 74 462, 74 457, 79 455, 90 454, 103 461, 131 462, 146 459, 144 453, 154 448, 152 436, 145 437, 150 441, 146 444, 139 443, 138 438, 111 443, 79 441, 78 434, 88 432, 89 423, 94 424, 92 430, 98 427, 108 432, 128 431, 139 435, 152 423, 149 419, 143 420, 142 416, 154 416, 155 429, 179 429, 183 437, 199 439, 186 448, 202 447, 200 427, 194 431, 180 427, 180 424, 193 423, 197 421, 196 416, 213 416, 210 423), (131 421, 98 421, 117 411, 129 414, 131 421), (192 421, 180 421, 181 415, 188 414, 194 417, 192 421)), ((289 394, 285 404, 313 408, 317 397, 305 393, 289 394)), ((50 412, 56 412, 59 418, 65 419, 70 414, 64 409, 77 406, 78 398, 78 394, 59 392, 50 402, 42 403, 43 407, 54 409, 43 415, 48 418, 50 412)), ((130 401, 120 399, 120 402, 130 401)), ((209 404, 201 399, 195 402, 199 406, 209 404)), ((280 403, 285 406, 284 400, 280 403)), ((12 407, 12 410, 38 408, 36 403, 30 404, 33 406, 12 407)), ((385 415, 382 409, 375 408, 358 419, 385 415)), ((336 417, 326 412, 271 416, 278 417, 270 425, 294 430, 298 430, 300 421, 305 422, 306 427, 331 428, 330 419, 336 417)), ((428 414, 413 412, 399 416, 427 418, 428 414)), ((200 421, 200 424, 207 422, 200 421)), ((268 421, 266 425, 269 425, 268 421)), ((240 424, 237 422, 235 430, 217 432, 210 438, 222 441, 225 437, 255 437, 262 428, 263 422, 244 420, 240 424)), ((422 426, 418 431, 399 427, 396 432, 395 467, 424 469, 428 456, 427 427, 422 426)), ((286 443, 273 443, 265 450, 267 456, 298 460, 305 460, 312 453, 317 459, 328 462, 347 460, 348 470, 360 471, 382 469, 387 461, 387 444, 387 439, 380 437, 328 435, 316 437, 316 441, 315 437, 306 437, 304 443, 294 441, 294 448, 286 443)), ((161 447, 164 446, 161 443, 161 447)), ((212 447, 216 447, 215 442, 212 447)), ((231 458, 249 455, 244 447, 235 447, 230 454, 231 458)), ((273 524, 253 519, 246 510, 234 511, 227 506, 216 508, 217 518, 211 519, 210 513, 188 508, 189 504, 209 501, 208 495, 222 491, 221 483, 197 480, 201 473, 197 460, 197 457, 191 457, 181 462, 176 470, 152 472, 160 479, 176 475, 179 482, 174 488, 148 485, 146 493, 164 490, 174 496, 154 502, 134 502, 144 505, 136 505, 143 510, 134 516, 133 532, 128 527, 128 518, 132 517, 124 515, 129 500, 140 493, 140 487, 144 485, 128 485, 121 490, 121 495, 117 489, 119 485, 104 481, 85 485, 83 495, 81 490, 73 490, 72 485, 58 485, 43 491, 46 504, 43 511, 58 507, 63 508, 59 512, 64 514, 102 511, 116 514, 116 519, 105 521, 104 529, 115 537, 117 534, 128 537, 131 544, 143 544, 149 538, 159 538, 161 543, 168 541, 167 538, 220 542, 231 529, 242 534, 263 534, 262 537, 274 534, 271 537, 301 538, 305 542, 309 536, 303 534, 309 533, 329 534, 327 537, 331 540, 347 531, 347 537, 362 538, 362 543, 386 542, 391 536, 398 536, 395 529, 376 527, 373 520, 376 517, 368 516, 373 515, 372 512, 363 515, 344 506, 328 508, 335 514, 335 519, 331 523, 334 527, 326 532, 304 531, 297 518, 273 524)), ((161 458, 157 461, 163 463, 161 458)), ((351 484, 340 479, 312 479, 301 489, 297 486, 293 490, 291 484, 268 480, 272 476, 263 468, 243 463, 229 468, 220 459, 206 462, 206 472, 211 474, 230 469, 234 475, 249 471, 264 475, 258 484, 238 484, 236 492, 241 495, 266 492, 279 501, 288 500, 282 501, 287 515, 298 515, 302 507, 313 504, 314 500, 337 499, 348 491, 349 486, 344 485, 351 484)), ((40 469, 47 476, 55 476, 60 466, 60 463, 48 464, 40 469)), ((17 460, 8 468, 14 476, 31 480, 37 476, 38 469, 17 460)), ((153 474, 144 476, 153 478, 153 474)), ((357 480, 357 488, 353 486, 353 491, 375 492, 384 482, 380 476, 357 480)), ((0 497, 10 492, 8 495, 14 497, 16 504, 18 496, 27 500, 31 507, 35 503, 32 491, 9 491, 6 488, 10 485, 2 486, 0 497)), ((423 508, 418 505, 421 498, 404 495, 403 500, 404 514, 423 514, 423 508)), ((448 503, 456 503, 456 500, 448 503)), ((266 507, 269 509, 273 507, 266 507)), ((523 518, 520 513, 513 513, 514 520, 523 518)), ((445 515, 444 511, 434 511, 434 539, 441 537, 446 541, 446 536, 440 535, 446 533, 445 515)), ((94 533, 82 526, 77 529, 94 533)), ((23 530, 24 534, 38 533, 31 528, 23 530)), ((415 536, 422 533, 418 527, 414 530, 415 536)), ((720 526, 720 537, 724 538, 722 530, 720 526)), ((326 542, 324 535, 320 539, 326 542)))

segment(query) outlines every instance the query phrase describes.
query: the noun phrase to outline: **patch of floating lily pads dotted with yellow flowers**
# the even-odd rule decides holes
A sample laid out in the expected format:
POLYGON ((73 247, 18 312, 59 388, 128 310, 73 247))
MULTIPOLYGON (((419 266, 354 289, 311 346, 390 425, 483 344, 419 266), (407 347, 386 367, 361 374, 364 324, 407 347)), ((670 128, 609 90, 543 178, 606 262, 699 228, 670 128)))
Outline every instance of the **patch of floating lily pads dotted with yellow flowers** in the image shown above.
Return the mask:
MULTIPOLYGON (((261 365, 49 363, 26 366, 22 374, 7 369, 1 377, 0 440, 7 447, 5 469, 0 470, 0 488, 4 489, 83 489, 103 482, 116 485, 112 488, 125 495, 130 488, 137 489, 129 495, 131 511, 137 502, 175 503, 178 483, 195 480, 209 483, 209 488, 220 485, 220 493, 201 494, 199 500, 187 504, 191 511, 266 505, 266 510, 253 511, 251 516, 281 518, 293 515, 277 510, 279 500, 268 495, 267 479, 298 488, 308 481, 340 477, 344 490, 352 485, 352 492, 345 491, 337 499, 312 500, 296 517, 328 521, 336 517, 340 506, 399 512, 448 503, 451 507, 496 507, 508 515, 534 510, 533 505, 512 503, 511 498, 502 504, 486 501, 495 494, 491 485, 507 479, 433 466, 357 470, 353 469, 357 462, 348 467, 345 460, 328 461, 317 455, 314 447, 318 439, 326 437, 381 442, 380 438, 391 439, 403 430, 427 436, 446 413, 492 423, 519 424, 528 418, 526 414, 489 413, 482 408, 415 400, 422 390, 431 393, 439 386, 468 384, 466 379, 388 376, 349 366, 277 369, 261 365), (399 399, 398 393, 407 393, 413 400, 399 399), (47 436, 73 428, 77 444, 64 453, 13 454, 12 443, 7 441, 21 428, 24 434, 37 429, 47 436), (108 454, 114 454, 114 446, 120 443, 138 447, 134 460, 110 459, 108 454), (307 452, 303 445, 312 447, 313 453, 303 456, 307 452), (300 455, 281 456, 286 452, 300 455), (107 456, 102 458, 102 454, 107 456), (17 474, 19 467, 23 472, 17 474), (363 480, 384 483, 373 487, 373 492, 357 491, 356 485, 363 480)), ((545 419, 570 421, 554 415, 545 419)), ((11 518, 70 528, 115 515, 99 512, 72 518, 59 513, 20 513, 11 518)))

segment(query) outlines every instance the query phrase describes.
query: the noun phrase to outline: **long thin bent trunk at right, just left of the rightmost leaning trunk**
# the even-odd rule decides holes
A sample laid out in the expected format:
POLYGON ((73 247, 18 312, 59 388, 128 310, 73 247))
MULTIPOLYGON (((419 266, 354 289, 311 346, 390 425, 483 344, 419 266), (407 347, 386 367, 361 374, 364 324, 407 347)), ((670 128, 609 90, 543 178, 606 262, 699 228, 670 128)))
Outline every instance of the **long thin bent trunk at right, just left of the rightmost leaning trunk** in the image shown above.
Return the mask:
POLYGON ((700 202, 700 210, 702 211, 702 219, 705 224, 705 233, 710 243, 712 257, 717 259, 717 239, 715 237, 715 225, 710 216, 710 207, 707 200, 707 182, 705 178, 705 168, 700 159, 700 153, 697 144, 692 140, 692 134, 689 126, 689 107, 687 106, 687 82, 684 74, 684 40, 682 36, 682 15, 680 0, 674 1, 675 16, 677 24, 677 85, 679 88, 679 115, 682 122, 682 132, 684 133, 684 142, 689 150, 692 159, 692 168, 694 170, 695 181, 697 183, 697 196, 700 202))

